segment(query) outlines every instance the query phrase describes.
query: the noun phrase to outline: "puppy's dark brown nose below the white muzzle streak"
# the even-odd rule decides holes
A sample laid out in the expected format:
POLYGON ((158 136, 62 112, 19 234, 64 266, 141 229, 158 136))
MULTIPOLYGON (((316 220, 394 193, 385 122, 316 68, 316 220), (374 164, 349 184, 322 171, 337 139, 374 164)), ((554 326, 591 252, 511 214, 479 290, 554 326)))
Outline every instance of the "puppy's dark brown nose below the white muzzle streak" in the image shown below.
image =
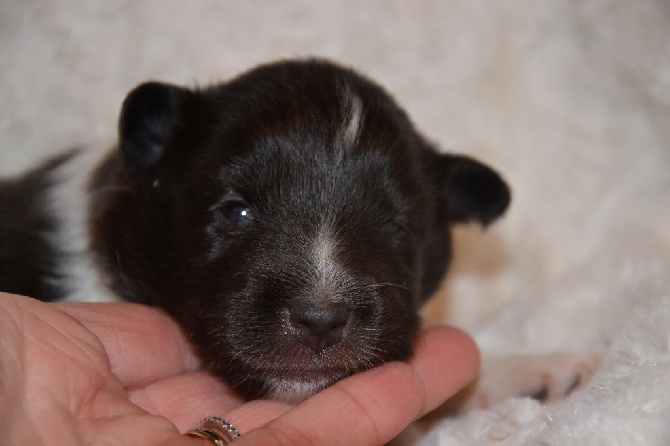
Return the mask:
POLYGON ((298 341, 315 353, 321 353, 344 338, 344 328, 349 321, 349 307, 344 303, 296 303, 291 305, 290 320, 298 341))

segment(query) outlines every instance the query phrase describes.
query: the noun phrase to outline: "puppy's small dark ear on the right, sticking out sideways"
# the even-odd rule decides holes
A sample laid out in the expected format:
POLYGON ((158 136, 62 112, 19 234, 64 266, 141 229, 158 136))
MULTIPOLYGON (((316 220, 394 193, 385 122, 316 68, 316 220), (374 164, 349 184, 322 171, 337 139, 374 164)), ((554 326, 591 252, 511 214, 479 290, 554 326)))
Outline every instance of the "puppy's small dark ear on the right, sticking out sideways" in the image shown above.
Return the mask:
POLYGON ((495 170, 466 156, 439 157, 438 184, 452 223, 476 221, 486 226, 505 212, 511 193, 495 170))

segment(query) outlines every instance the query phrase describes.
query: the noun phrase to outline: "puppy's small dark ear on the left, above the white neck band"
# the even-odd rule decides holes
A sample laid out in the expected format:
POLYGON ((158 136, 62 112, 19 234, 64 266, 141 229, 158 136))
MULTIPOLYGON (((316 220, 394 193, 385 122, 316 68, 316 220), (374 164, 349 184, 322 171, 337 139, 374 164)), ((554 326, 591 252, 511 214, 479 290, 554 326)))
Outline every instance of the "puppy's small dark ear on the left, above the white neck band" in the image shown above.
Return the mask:
POLYGON ((159 82, 146 82, 128 93, 119 119, 119 148, 131 170, 151 168, 163 158, 185 93, 159 82))

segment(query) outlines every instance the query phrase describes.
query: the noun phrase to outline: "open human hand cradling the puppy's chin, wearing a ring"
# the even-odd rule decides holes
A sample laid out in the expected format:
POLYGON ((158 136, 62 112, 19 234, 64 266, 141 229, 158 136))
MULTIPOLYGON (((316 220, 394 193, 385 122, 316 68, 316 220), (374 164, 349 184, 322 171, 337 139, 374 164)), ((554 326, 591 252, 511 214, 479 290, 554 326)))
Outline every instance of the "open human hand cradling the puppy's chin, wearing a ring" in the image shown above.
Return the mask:
POLYGON ((0 444, 204 445, 210 415, 236 445, 378 445, 477 373, 463 332, 425 327, 408 363, 342 380, 298 406, 245 402, 199 369, 180 329, 130 303, 43 303, 0 293, 0 444))

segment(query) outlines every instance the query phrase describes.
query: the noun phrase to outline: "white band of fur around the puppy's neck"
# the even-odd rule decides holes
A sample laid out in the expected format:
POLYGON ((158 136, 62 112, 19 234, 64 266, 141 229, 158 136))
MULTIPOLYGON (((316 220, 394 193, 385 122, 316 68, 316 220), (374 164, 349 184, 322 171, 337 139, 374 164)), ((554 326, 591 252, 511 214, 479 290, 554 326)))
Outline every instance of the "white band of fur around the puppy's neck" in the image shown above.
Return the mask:
POLYGON ((95 265, 89 250, 88 183, 91 173, 107 154, 99 148, 85 148, 53 172, 54 185, 47 194, 49 212, 57 230, 47 240, 67 253, 58 266, 57 285, 66 290, 66 301, 118 301, 95 265))

